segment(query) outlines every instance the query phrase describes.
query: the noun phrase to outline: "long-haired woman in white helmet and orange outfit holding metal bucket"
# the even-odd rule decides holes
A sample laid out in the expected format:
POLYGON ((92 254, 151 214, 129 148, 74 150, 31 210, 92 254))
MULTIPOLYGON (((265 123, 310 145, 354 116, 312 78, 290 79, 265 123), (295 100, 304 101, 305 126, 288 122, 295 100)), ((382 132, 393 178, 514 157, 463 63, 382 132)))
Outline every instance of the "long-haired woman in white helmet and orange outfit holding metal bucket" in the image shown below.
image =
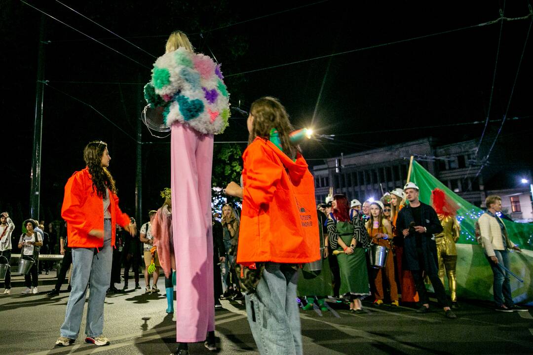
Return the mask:
POLYGON ((384 292, 383 292, 383 273, 387 284, 390 288, 390 300, 391 305, 398 307, 398 287, 396 286, 396 280, 394 279, 394 258, 392 257, 392 225, 383 215, 383 203, 381 201, 374 201, 370 203, 370 218, 366 222, 367 232, 372 238, 372 243, 379 246, 384 246, 389 251, 389 257, 385 258, 385 267, 376 269, 374 277, 376 306, 383 304, 384 292))

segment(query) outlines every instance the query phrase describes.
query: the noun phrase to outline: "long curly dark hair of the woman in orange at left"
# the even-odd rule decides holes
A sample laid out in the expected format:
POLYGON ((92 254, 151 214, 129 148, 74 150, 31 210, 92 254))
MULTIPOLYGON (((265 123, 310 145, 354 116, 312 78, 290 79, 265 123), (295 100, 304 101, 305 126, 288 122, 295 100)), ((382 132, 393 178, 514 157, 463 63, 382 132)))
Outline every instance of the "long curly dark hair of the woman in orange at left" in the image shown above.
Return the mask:
POLYGON ((114 194, 117 193, 115 179, 106 167, 102 167, 102 156, 106 148, 107 143, 93 141, 87 144, 83 150, 83 160, 85 160, 93 180, 93 192, 96 190, 96 194, 102 199, 106 199, 106 188, 109 188, 114 194))

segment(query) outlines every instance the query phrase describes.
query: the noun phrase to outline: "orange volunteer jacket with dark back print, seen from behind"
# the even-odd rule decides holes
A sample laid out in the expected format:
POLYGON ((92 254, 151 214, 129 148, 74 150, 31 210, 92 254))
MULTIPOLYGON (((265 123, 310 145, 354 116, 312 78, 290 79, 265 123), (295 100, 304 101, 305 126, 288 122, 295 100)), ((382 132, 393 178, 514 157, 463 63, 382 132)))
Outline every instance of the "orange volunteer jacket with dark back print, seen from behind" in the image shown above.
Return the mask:
POLYGON ((306 263, 320 259, 314 179, 303 156, 290 159, 255 138, 244 154, 243 212, 237 262, 306 263))

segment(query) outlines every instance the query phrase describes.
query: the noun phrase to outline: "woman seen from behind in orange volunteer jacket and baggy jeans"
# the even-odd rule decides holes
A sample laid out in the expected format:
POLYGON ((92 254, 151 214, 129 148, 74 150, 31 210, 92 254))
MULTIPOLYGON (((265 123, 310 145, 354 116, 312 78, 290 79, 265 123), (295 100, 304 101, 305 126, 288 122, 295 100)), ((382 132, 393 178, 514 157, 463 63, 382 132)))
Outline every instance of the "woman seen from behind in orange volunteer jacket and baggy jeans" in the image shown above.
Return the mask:
POLYGON ((256 100, 247 126, 244 187, 230 183, 225 191, 243 199, 237 263, 255 269, 246 275, 262 271, 245 296, 248 323, 261 354, 302 354, 296 271, 320 259, 314 181, 278 100, 256 100))

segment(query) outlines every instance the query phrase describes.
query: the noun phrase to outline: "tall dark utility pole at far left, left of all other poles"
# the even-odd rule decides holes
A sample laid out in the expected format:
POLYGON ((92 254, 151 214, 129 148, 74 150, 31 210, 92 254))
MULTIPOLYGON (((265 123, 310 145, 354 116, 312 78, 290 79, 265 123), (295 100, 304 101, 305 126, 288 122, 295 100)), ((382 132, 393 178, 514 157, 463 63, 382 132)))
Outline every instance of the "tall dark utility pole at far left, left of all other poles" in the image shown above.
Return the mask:
POLYGON ((44 41, 45 16, 41 15, 39 28, 39 52, 37 57, 37 89, 35 97, 35 122, 33 154, 31 156, 31 193, 30 214, 31 218, 39 219, 39 203, 41 193, 41 144, 43 138, 43 98, 44 98, 44 41))

